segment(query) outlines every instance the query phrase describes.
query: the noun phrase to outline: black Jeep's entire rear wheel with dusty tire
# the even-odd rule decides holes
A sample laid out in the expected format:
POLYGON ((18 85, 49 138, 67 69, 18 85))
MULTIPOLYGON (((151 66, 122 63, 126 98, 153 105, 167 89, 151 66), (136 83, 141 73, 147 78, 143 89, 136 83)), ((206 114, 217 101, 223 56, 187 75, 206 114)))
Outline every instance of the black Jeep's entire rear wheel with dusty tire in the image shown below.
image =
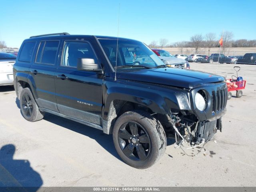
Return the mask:
POLYGON ((29 88, 24 88, 20 92, 20 111, 22 116, 31 122, 39 121, 44 118, 29 88))

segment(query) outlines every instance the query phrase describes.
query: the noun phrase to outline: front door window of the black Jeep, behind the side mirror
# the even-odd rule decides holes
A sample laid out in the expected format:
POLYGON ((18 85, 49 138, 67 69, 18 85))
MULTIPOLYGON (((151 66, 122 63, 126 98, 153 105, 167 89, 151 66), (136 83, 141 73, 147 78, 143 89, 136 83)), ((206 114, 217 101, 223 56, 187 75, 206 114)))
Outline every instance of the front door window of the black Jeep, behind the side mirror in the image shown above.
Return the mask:
POLYGON ((96 61, 96 56, 86 42, 66 42, 62 58, 62 66, 76 67, 77 58, 92 58, 96 61))

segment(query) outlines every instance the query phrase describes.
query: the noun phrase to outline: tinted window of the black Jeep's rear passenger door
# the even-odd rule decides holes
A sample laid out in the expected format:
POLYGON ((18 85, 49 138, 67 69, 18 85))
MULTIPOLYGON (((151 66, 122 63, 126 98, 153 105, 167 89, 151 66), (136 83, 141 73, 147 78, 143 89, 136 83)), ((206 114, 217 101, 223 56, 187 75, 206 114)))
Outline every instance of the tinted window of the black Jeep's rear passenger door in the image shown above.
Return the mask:
POLYGON ((42 41, 38 47, 36 62, 42 64, 55 64, 59 41, 42 41))

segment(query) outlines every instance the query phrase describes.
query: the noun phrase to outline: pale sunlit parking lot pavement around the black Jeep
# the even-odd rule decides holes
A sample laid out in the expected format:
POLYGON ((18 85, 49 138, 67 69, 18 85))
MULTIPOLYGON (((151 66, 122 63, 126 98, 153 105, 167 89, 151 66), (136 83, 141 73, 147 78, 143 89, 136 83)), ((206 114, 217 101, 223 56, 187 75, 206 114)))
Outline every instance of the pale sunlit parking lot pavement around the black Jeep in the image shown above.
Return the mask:
MULTIPOLYGON (((235 74, 234 64, 190 66, 227 78, 235 74)), ((122 162, 112 135, 100 130, 50 114, 26 121, 13 87, 0 87, 0 186, 256 186, 256 66, 236 66, 246 89, 242 98, 233 92, 228 100, 215 142, 197 156, 188 155, 200 148, 185 150, 186 155, 168 145, 160 161, 146 170, 122 162)))

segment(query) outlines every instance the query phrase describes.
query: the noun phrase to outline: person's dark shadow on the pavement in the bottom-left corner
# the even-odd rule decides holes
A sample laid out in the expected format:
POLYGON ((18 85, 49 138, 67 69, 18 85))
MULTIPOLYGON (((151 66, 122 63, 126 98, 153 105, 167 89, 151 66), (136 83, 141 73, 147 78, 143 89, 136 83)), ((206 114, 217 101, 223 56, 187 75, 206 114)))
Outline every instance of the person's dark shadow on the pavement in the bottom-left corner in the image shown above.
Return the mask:
POLYGON ((0 149, 0 187, 18 187, 16 190, 21 192, 27 191, 24 187, 32 187, 29 191, 37 191, 43 184, 40 174, 30 167, 28 160, 13 159, 15 150, 13 144, 0 149))

